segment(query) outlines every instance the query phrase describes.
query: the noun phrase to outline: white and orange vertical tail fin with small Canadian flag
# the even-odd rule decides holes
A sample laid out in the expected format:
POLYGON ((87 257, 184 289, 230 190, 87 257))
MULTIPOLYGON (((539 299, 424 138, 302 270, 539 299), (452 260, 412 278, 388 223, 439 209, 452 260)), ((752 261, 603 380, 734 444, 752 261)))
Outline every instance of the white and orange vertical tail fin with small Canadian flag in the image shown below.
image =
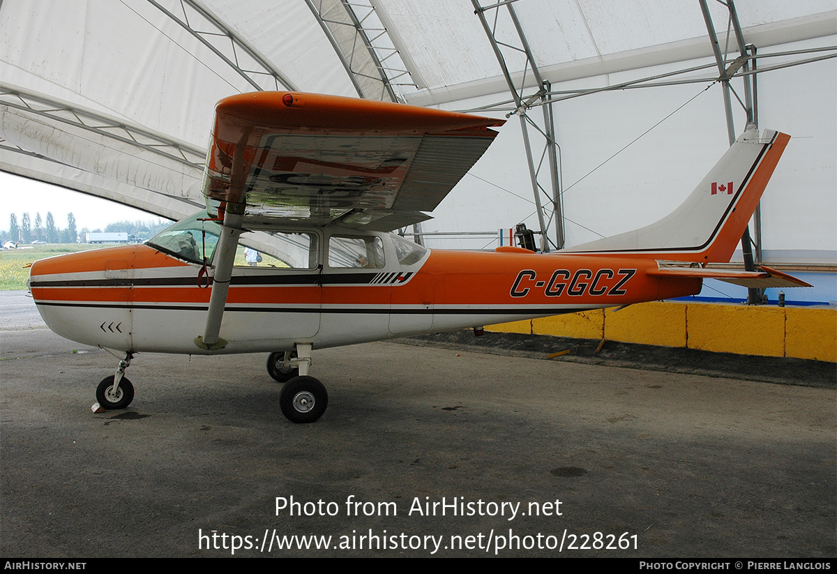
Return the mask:
POLYGON ((679 208, 644 228, 561 253, 723 262, 732 257, 790 136, 745 131, 679 208))

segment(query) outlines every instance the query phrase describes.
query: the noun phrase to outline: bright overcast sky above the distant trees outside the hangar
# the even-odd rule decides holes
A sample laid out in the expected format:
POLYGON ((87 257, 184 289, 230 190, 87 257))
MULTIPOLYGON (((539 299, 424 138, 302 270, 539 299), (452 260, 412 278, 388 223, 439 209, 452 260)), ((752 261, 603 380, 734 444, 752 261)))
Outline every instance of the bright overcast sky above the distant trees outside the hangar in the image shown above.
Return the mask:
POLYGON ((3 190, 0 201, 0 229, 8 231, 9 215, 14 213, 18 225, 23 220, 23 213, 29 214, 32 227, 35 214, 41 214, 41 221, 46 226, 47 213, 52 213, 57 228, 67 227, 67 214, 73 213, 75 228, 104 229, 108 223, 117 221, 167 221, 156 215, 138 209, 129 208, 121 203, 109 202, 85 193, 71 192, 64 187, 49 183, 36 182, 25 177, 13 176, 0 172, 0 189, 3 190))

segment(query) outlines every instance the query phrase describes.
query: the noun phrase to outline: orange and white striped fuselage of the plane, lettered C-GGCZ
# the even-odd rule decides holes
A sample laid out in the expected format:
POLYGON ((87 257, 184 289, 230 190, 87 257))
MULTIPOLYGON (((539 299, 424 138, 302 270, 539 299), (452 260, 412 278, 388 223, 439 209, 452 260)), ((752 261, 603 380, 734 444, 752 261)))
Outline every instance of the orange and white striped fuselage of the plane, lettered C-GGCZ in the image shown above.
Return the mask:
POLYGON ((426 251, 401 264, 392 236, 378 233, 376 269, 237 266, 218 351, 198 348, 212 269, 148 245, 62 255, 33 264, 30 287, 49 328, 119 351, 186 354, 352 345, 647 300, 694 295, 700 279, 645 274, 650 259, 426 251))

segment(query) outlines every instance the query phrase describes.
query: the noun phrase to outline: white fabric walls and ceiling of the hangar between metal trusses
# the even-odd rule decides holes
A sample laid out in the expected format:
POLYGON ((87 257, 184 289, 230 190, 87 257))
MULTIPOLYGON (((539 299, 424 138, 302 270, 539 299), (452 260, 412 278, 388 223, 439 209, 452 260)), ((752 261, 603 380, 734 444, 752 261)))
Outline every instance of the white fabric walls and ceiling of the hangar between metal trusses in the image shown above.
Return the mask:
MULTIPOLYGON (((710 4, 716 31, 726 42, 725 8, 710 4)), ((830 0, 736 4, 745 37, 758 45, 760 66, 800 58, 768 54, 829 47, 833 54, 837 10, 830 0)), ((398 49, 398 65, 412 74, 393 84, 399 98, 485 115, 508 113, 508 105, 497 105, 509 99, 497 60, 468 3, 374 0, 357 5, 377 8, 370 21, 387 28, 378 37, 398 49)), ((604 88, 713 61, 696 2, 672 8, 659 0, 608 7, 521 0, 516 6, 533 54, 554 91, 604 88)), ((259 64, 241 49, 230 51, 232 36, 203 36, 211 38, 207 45, 187 33, 185 20, 199 30, 212 28, 193 7, 203 7, 227 24, 234 38, 278 69, 289 85, 357 95, 320 23, 299 0, 4 0, 0 4, 3 86, 45 95, 202 150, 215 101, 254 90, 253 81, 262 89, 275 89, 277 82, 260 72, 259 64), (168 17, 157 5, 177 18, 168 17), (257 73, 240 74, 218 54, 257 73)), ((328 9, 341 9, 341 4, 328 3, 328 9)), ((502 24, 498 39, 511 38, 510 28, 502 24)), ((511 64, 516 66, 512 73, 521 74, 521 62, 511 60, 511 64)), ((712 75, 711 69, 699 70, 688 76, 706 76, 701 83, 605 91, 554 105, 567 244, 651 223, 691 192, 728 145, 721 90, 711 81, 712 75)), ((793 136, 763 200, 766 262, 837 263, 835 76, 833 59, 758 75, 759 124, 793 136)), ((735 80, 733 85, 741 92, 735 80)), ((33 111, 12 107, 14 97, 8 90, 0 97, 0 136, 6 148, 0 161, 3 171, 25 171, 29 177, 140 208, 151 210, 156 205, 153 213, 166 217, 193 209, 198 173, 184 168, 175 182, 167 173, 171 167, 140 161, 141 154, 133 152, 135 159, 122 165, 109 156, 127 152, 106 136, 86 138, 84 146, 56 145, 46 136, 51 127, 56 134, 71 130, 59 121, 49 124, 33 111), (39 133, 25 127, 35 118, 44 126, 39 133), (56 162, 62 167, 50 169, 56 162), (174 192, 172 185, 178 187, 174 192), (122 191, 115 193, 115 188, 122 191)), ((540 116, 535 110, 530 115, 536 121, 540 116)), ((738 106, 735 115, 736 131, 741 132, 744 119, 738 106)), ((533 228, 534 213, 521 130, 512 117, 423 231, 491 233, 521 222, 533 228)), ((429 237, 427 243, 490 249, 497 240, 444 236, 429 237)))

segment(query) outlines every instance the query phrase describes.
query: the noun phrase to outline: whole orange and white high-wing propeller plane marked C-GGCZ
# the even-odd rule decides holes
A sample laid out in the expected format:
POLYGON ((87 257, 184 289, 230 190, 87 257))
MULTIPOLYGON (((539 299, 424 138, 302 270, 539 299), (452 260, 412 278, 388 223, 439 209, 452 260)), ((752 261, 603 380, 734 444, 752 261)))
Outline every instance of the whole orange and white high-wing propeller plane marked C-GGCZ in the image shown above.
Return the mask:
POLYGON ((431 251, 389 233, 428 219, 502 123, 325 95, 229 97, 208 209, 142 245, 36 262, 33 298, 59 335, 125 353, 96 391, 102 407, 131 402, 138 351, 267 351, 282 412, 311 423, 328 402, 308 374, 312 349, 694 295, 705 278, 804 284, 705 267, 732 256, 788 143, 775 131, 747 131, 668 217, 556 254, 431 251))

